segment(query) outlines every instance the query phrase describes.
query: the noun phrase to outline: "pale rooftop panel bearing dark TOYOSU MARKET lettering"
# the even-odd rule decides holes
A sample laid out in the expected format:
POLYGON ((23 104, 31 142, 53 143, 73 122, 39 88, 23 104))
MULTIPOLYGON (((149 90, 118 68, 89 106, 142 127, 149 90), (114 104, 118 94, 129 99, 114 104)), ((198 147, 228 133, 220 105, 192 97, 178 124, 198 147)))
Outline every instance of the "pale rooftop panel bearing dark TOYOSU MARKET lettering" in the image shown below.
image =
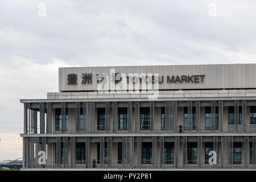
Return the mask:
MULTIPOLYGON (((256 89, 256 64, 154 65, 59 68, 60 92, 98 91, 98 86, 143 84, 159 90, 256 89)), ((129 90, 129 89, 127 89, 129 90)))

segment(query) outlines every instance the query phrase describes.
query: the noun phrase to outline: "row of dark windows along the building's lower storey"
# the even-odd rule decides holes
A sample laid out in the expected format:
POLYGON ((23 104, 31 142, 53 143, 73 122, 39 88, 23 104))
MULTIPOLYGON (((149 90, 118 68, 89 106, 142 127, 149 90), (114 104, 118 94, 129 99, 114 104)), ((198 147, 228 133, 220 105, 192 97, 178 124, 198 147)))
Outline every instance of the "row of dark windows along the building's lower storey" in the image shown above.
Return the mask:
MULTIPOLYGON (((65 148, 67 150, 67 148, 65 148)), ((57 150, 56 150, 57 151, 57 150)), ((209 164, 208 155, 213 151, 213 143, 205 142, 205 164, 209 164)), ((67 151, 66 151, 67 152, 67 151)), ((242 147, 241 142, 233 143, 233 164, 241 164, 242 147)), ((56 155, 56 154, 55 154, 56 155)), ((118 142, 118 164, 122 164, 122 143, 118 142)), ((152 143, 142 142, 142 164, 152 164, 152 143)), ((61 143, 61 163, 64 161, 63 143, 61 143)), ((104 145, 104 162, 108 163, 108 144, 104 145)), ((100 143, 97 143, 97 163, 100 163, 100 143)), ((189 142, 187 144, 187 164, 197 163, 197 143, 189 142)), ((250 164, 253 163, 253 145, 250 142, 250 164)), ((76 164, 85 164, 85 143, 76 143, 76 164)), ((164 143, 164 164, 174 164, 174 143, 164 143)))

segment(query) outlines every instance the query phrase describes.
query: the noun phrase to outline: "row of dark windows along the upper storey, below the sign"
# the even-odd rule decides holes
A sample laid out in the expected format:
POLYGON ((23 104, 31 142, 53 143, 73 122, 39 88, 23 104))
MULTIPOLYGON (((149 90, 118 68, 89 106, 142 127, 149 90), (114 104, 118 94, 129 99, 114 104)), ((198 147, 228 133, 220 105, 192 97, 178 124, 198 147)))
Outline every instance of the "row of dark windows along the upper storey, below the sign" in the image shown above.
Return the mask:
MULTIPOLYGON (((80 130, 86 127, 86 115, 83 110, 80 110, 80 130), (85 121, 84 121, 85 118, 85 121)), ((98 108, 97 110, 97 129, 105 130, 105 108, 98 108)), ((214 129, 218 130, 218 107, 215 108, 215 113, 212 114, 211 107, 205 107, 205 130, 214 129), (214 123, 212 123, 212 121, 214 123)), ((242 122, 242 107, 238 107, 237 116, 239 117, 238 123, 242 122)), ((56 109, 56 130, 61 130, 61 109, 56 109)), ((228 107, 228 123, 229 125, 235 122, 235 111, 233 106, 228 107)), ((196 107, 192 107, 192 113, 188 114, 188 107, 184 107, 184 130, 188 130, 188 121, 192 121, 192 130, 196 129, 196 107), (191 119, 189 119, 191 118, 191 119)), ((65 115, 65 129, 68 130, 68 109, 65 115)), ((256 124, 256 106, 250 107, 250 124, 256 124)), ((161 129, 165 129, 165 108, 161 108, 161 129)), ((127 130, 127 107, 118 108, 118 130, 127 130)), ((150 130, 150 107, 141 107, 141 130, 150 130)))

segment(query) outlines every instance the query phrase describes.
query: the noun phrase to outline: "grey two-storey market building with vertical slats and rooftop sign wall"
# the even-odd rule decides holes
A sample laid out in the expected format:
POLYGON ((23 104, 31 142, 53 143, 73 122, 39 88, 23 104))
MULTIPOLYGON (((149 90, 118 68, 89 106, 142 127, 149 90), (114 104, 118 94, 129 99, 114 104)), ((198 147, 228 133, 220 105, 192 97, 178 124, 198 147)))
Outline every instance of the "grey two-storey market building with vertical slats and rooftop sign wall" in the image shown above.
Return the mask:
POLYGON ((59 68, 59 91, 20 100, 25 169, 256 167, 256 64, 59 68))

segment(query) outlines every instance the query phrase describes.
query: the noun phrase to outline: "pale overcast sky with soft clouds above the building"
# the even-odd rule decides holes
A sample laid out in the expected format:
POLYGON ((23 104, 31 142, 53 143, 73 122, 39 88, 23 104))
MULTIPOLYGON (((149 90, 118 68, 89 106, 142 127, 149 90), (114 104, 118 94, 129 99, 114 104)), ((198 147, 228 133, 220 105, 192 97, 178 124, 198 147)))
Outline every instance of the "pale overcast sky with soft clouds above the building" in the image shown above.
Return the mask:
POLYGON ((58 67, 256 63, 255 7, 255 0, 0 0, 0 160, 22 157, 19 99, 58 92, 58 67))

